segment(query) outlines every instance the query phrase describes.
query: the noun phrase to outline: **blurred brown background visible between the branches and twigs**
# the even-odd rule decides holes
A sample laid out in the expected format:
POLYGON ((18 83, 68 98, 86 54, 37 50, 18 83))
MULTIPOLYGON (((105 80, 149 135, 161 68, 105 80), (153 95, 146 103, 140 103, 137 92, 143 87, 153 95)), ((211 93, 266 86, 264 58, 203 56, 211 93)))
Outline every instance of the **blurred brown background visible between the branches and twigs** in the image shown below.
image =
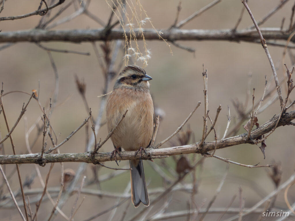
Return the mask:
MULTIPOLYGON (((140 1, 148 16, 151 18, 153 25, 157 29, 168 28, 173 24, 176 15, 176 7, 179 1, 140 1)), ((211 0, 201 1, 183 1, 181 4, 182 10, 180 12, 179 20, 185 19, 194 11, 209 4, 211 0)), ((35 11, 39 6, 40 1, 6 1, 1 17, 16 16, 35 11)), ((254 17, 259 20, 268 11, 275 7, 279 1, 249 1, 254 17)), ((271 19, 269 19, 262 27, 280 27, 281 20, 286 17, 286 24, 289 24, 289 17, 291 15, 291 7, 294 1, 289 1, 283 8, 278 11, 271 19)), ((240 11, 243 5, 240 1, 224 0, 208 10, 201 16, 197 17, 189 24, 185 25, 183 29, 230 29, 233 28, 240 16, 240 11)), ((53 9, 52 14, 58 9, 53 9)), ((107 22, 110 9, 106 1, 92 1, 89 10, 97 17, 107 22)), ((67 16, 74 11, 73 7, 68 8, 61 16, 67 16)), ((0 29, 2 32, 9 32, 22 29, 32 29, 39 22, 40 16, 32 16, 25 19, 14 21, 1 21, 0 29)), ((252 25, 252 21, 248 13, 245 11, 242 22, 238 29, 242 29, 252 25)), ((150 24, 146 24, 145 28, 150 28, 150 24)), ((70 22, 62 24, 55 29, 96 29, 101 28, 99 24, 89 19, 85 15, 76 17, 70 22)), ((101 42, 96 42, 99 45, 101 42)), ((211 118, 214 118, 216 109, 219 104, 222 106, 222 111, 219 114, 217 121, 217 136, 221 138, 227 124, 227 105, 230 106, 233 126, 236 122, 235 116, 237 113, 232 105, 232 100, 238 99, 241 102, 245 101, 247 90, 256 88, 256 99, 260 99, 264 90, 264 75, 267 75, 268 84, 274 85, 272 72, 260 44, 254 43, 235 43, 227 41, 187 41, 178 42, 185 46, 195 48, 195 56, 185 50, 181 50, 171 44, 173 55, 171 55, 168 46, 163 41, 148 41, 147 46, 152 53, 152 57, 145 67, 148 75, 153 77, 150 81, 150 91, 153 96, 154 104, 165 112, 165 117, 160 121, 160 127, 156 142, 160 142, 171 133, 185 120, 189 113, 193 110, 196 103, 200 100, 201 107, 196 110, 194 116, 189 120, 187 125, 190 126, 194 132, 196 141, 201 139, 203 127, 203 112, 204 112, 204 95, 203 95, 203 79, 201 72, 203 71, 202 64, 208 69, 208 95, 209 95, 209 110, 211 118), (248 84, 249 73, 252 73, 252 81, 250 86, 248 84)), ((52 52, 53 59, 58 69, 59 74, 59 94, 57 106, 51 114, 50 123, 55 132, 59 135, 59 142, 63 141, 72 131, 74 131, 88 116, 88 112, 84 107, 78 90, 75 85, 74 75, 80 79, 83 78, 86 83, 86 97, 89 106, 92 108, 92 113, 96 117, 99 111, 99 104, 101 98, 98 95, 102 93, 103 77, 97 58, 94 54, 90 43, 71 44, 63 42, 48 42, 42 43, 46 47, 58 48, 65 50, 77 50, 83 52, 90 52, 90 56, 66 54, 52 52)), ((142 45, 141 42, 139 42, 142 45)), ((168 42, 168 44, 170 44, 168 42)), ((3 44, 4 45, 4 44, 3 44)), ((281 78, 285 74, 285 69, 281 64, 283 48, 268 47, 273 62, 278 67, 277 74, 281 78)), ((118 61, 123 58, 121 53, 118 61)), ((285 63, 291 69, 292 65, 289 58, 285 63)), ((137 65, 142 63, 137 62, 137 65)), ((34 43, 16 43, 9 48, 0 51, 0 81, 4 82, 4 93, 13 90, 22 90, 31 93, 31 90, 38 89, 38 81, 40 81, 40 103, 42 106, 48 107, 49 98, 53 97, 54 90, 54 72, 50 64, 47 52, 40 49, 34 43)), ((114 81, 111 84, 111 90, 114 81)), ((108 92, 109 92, 108 91, 108 92)), ((285 90, 283 90, 285 92, 285 90)), ((284 94, 285 96, 285 94, 284 94)), ((14 124, 19 116, 22 104, 27 102, 29 96, 23 93, 11 93, 4 96, 3 103, 8 117, 10 126, 14 124)), ((248 107, 250 108, 249 99, 248 107)), ((294 94, 291 95, 291 100, 294 100, 294 94)), ((268 121, 273 115, 278 114, 280 106, 278 100, 271 105, 266 111, 258 115, 258 122, 260 124, 268 121)), ((29 104, 25 117, 27 118, 28 128, 35 123, 38 116, 42 112, 35 100, 29 104)), ((105 114, 103 121, 105 119, 105 114)), ((246 123, 246 122, 245 122, 246 123)), ((243 124, 245 124, 243 123, 243 124)), ((41 123, 40 123, 41 125, 41 123)), ((187 125, 185 128, 187 128, 187 125)), ((13 133, 14 144, 18 154, 26 153, 24 139, 24 119, 22 119, 13 133)), ((0 116, 1 136, 6 133, 6 126, 3 115, 0 116)), ((231 128, 231 127, 230 127, 231 128)), ((36 131, 36 129, 35 129, 36 131)), ((91 131, 90 131, 91 132, 91 131)), ((244 133, 245 130, 241 127, 239 133, 244 133)), ((36 132, 35 132, 36 133, 36 132)), ((29 138, 30 143, 35 138, 35 133, 31 133, 29 138)), ((103 126, 98 134, 98 138, 104 139, 107 135, 106 126, 103 126)), ((214 141, 213 133, 207 138, 207 141, 214 141)), ((263 159, 258 146, 245 144, 240 146, 228 147, 217 150, 216 155, 222 156, 242 164, 272 164, 273 160, 280 162, 282 166, 282 182, 289 178, 294 172, 294 127, 286 126, 278 128, 268 139, 266 147, 266 159, 263 159)), ((47 141, 50 146, 49 140, 47 141)), ((166 143, 163 147, 168 147, 166 143)), ((38 139, 33 152, 40 152, 42 147, 42 136, 38 139)), ((9 140, 4 142, 5 154, 12 154, 11 144, 9 140)), ((100 150, 111 151, 113 145, 108 141, 100 150)), ((60 148, 61 153, 84 152, 85 150, 85 129, 82 128, 73 136, 65 145, 60 148)), ((191 158, 192 156, 189 156, 191 158)), ((155 163, 160 165, 163 159, 155 160, 155 163)), ((173 159, 165 159, 173 169, 175 169, 175 162, 173 159)), ((108 166, 116 167, 115 162, 106 163, 108 166)), ((120 167, 127 166, 127 161, 119 163, 120 167)), ((78 163, 65 163, 65 168, 77 169, 78 163)), ((93 173, 88 165, 86 181, 91 180, 93 173)), ((196 202, 199 207, 204 208, 214 195, 216 188, 225 172, 227 164, 217 159, 205 159, 203 169, 197 170, 197 178, 200 180, 196 194, 196 202), (204 205, 203 205, 204 204, 204 205)), ((10 174, 15 169, 14 165, 6 165, 6 175, 10 174)), ((34 165, 20 166, 23 181, 26 177, 31 177, 35 174, 34 165)), ((43 179, 49 170, 49 164, 44 168, 40 167, 43 179)), ((218 195, 212 207, 226 207, 234 194, 238 194, 238 189, 243 189, 242 196, 245 198, 245 207, 251 207, 260 199, 265 197, 269 192, 273 191, 274 185, 268 177, 266 168, 245 168, 237 165, 230 165, 229 174, 222 187, 221 193, 218 195)), ((110 173, 108 169, 100 169, 99 175, 110 173)), ((145 176, 148 182, 148 189, 163 186, 163 180, 151 168, 150 163, 145 162, 145 176)), ((2 176, 0 176, 2 183, 2 176)), ((172 178, 172 177, 171 177, 172 178)), ((48 187, 60 186, 60 164, 56 164, 51 173, 48 187)), ((129 172, 123 173, 114 179, 106 182, 87 186, 86 188, 99 189, 104 191, 120 192, 122 193, 129 182, 129 172)), ((185 182, 191 182, 191 176, 186 177, 185 182)), ((183 182, 183 183, 185 183, 183 182)), ((17 175, 15 174, 10 180, 11 187, 14 191, 19 189, 17 175)), ((78 183, 78 186, 80 182, 78 183)), ((36 177, 31 188, 41 187, 39 179, 36 177)), ((7 193, 6 187, 4 192, 7 193)), ((81 194, 78 201, 81 202, 85 194, 81 194)), ((150 196, 153 199, 155 196, 150 196)), ((295 186, 289 190, 288 199, 292 204, 295 202, 295 186)), ((76 195, 72 196, 68 203, 63 207, 63 212, 69 214, 73 206, 73 201, 76 195)), ((171 205, 167 208, 167 212, 175 210, 186 210, 187 201, 190 200, 190 195, 182 192, 173 193, 171 205)), ((21 200, 20 200, 21 202, 21 200)), ((75 215, 75 220, 84 220, 93 214, 105 210, 115 204, 115 199, 99 198, 87 196, 81 208, 75 215)), ((131 203, 131 201, 128 203, 131 203)), ((35 205, 32 203, 32 210, 35 211, 35 205)), ((238 197, 235 199, 232 207, 239 207, 238 197)), ((38 219, 47 219, 53 206, 47 200, 42 202, 38 219)), ((122 215, 122 210, 125 206, 118 208, 114 220, 119 220, 122 215)), ((283 194, 278 195, 276 201, 276 208, 286 209, 286 204, 283 199, 283 194)), ((139 210, 138 210, 139 211, 139 210)), ((135 208, 130 205, 127 210, 125 220, 128 220, 136 212, 135 208)), ((8 209, 2 205, 0 207, 0 220, 20 220, 19 214, 15 207, 8 209)), ((109 213, 97 218, 96 220, 107 220, 109 213)), ((211 215, 206 217, 210 220, 211 215)), ((214 216, 213 216, 214 217, 214 216)), ((230 216, 224 216, 230 217, 230 216)), ((205 219, 205 220, 206 220, 205 219)), ((62 220, 58 215, 55 220, 62 220)), ((182 218, 175 218, 174 220, 183 220, 182 218)), ((245 218, 250 220, 250 217, 245 218)), ((270 218, 269 218, 270 220, 270 218)))

